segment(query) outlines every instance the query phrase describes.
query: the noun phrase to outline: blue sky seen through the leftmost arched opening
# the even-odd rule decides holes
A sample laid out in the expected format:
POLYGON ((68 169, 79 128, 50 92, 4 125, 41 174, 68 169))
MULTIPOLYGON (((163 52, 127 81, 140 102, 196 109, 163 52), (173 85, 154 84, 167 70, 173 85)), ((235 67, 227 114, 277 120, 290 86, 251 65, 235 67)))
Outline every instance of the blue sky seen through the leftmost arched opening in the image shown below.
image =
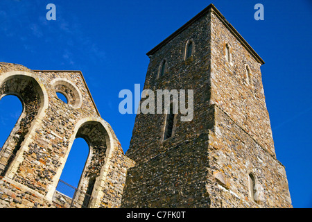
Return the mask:
POLYGON ((4 96, 0 100, 0 149, 15 128, 22 111, 23 105, 17 96, 4 96))

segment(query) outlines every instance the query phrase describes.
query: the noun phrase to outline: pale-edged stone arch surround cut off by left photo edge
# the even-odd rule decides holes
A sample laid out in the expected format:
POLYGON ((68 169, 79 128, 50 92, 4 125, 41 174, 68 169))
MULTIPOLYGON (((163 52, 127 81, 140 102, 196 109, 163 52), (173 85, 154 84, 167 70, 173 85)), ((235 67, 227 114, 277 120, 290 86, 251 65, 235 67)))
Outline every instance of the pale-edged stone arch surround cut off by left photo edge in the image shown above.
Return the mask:
MULTIPOLYGON (((0 151, 0 174, 12 173, 11 163, 20 159, 21 151, 28 144, 36 121, 44 115, 47 107, 46 90, 34 74, 26 71, 9 71, 0 76, 0 99, 3 96, 14 95, 21 101, 22 112, 12 129, 8 139, 0 151)), ((14 170, 13 170, 14 171, 14 170)))

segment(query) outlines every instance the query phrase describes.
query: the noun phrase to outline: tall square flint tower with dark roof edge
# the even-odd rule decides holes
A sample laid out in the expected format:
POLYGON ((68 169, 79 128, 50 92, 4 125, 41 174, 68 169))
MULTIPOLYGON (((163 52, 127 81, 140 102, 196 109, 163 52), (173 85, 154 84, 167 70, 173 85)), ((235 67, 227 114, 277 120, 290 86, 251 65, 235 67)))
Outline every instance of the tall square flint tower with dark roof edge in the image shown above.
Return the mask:
POLYGON ((121 207, 292 207, 264 62, 214 5, 147 55, 144 89, 193 89, 193 119, 137 114, 121 207))

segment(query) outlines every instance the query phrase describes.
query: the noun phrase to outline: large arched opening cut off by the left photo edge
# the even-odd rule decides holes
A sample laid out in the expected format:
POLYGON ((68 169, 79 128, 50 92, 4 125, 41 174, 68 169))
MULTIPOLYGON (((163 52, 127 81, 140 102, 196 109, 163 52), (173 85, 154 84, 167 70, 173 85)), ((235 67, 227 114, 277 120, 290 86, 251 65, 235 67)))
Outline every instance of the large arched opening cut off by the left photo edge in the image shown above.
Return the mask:
MULTIPOLYGON (((18 98, 19 102, 17 102, 17 104, 22 104, 22 108, 19 108, 19 110, 22 111, 13 111, 13 107, 15 106, 13 104, 5 105, 6 108, 10 108, 10 110, 1 110, 1 114, 3 114, 2 121, 3 117, 4 119, 10 119, 8 121, 12 121, 11 126, 1 126, 1 131, 12 129, 9 135, 8 133, 1 132, 1 137, 7 137, 7 139, 5 142, 3 141, 4 139, 2 139, 0 145, 2 146, 0 151, 2 166, 0 174, 1 176, 6 176, 6 173, 10 171, 10 166, 12 165, 12 161, 15 160, 16 155, 20 156, 23 154, 18 153, 18 151, 22 148, 24 139, 30 132, 33 122, 37 118, 37 114, 42 112, 41 108, 43 108, 44 105, 44 94, 42 87, 34 78, 26 75, 11 75, 5 78, 0 84, 0 98, 1 103, 11 98, 16 101, 16 98, 18 98), (18 120, 16 121, 16 119, 18 120), (12 127, 13 124, 15 124, 14 127, 12 127)), ((1 107, 1 109, 3 109, 3 107, 1 107)))

